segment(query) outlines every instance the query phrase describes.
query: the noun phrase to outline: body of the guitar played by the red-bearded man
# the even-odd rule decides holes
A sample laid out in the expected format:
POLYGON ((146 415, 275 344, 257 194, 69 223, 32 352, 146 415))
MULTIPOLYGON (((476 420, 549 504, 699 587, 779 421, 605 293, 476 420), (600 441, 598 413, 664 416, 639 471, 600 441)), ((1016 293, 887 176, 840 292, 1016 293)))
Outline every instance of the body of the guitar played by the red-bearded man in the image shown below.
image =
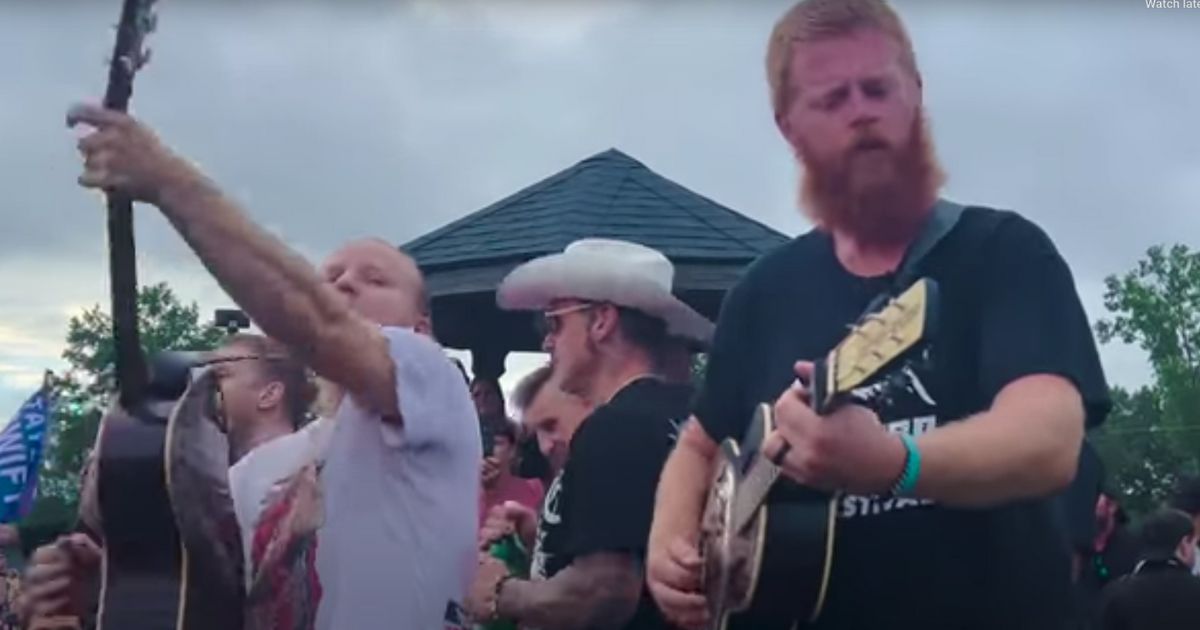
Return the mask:
POLYGON ((816 618, 824 600, 836 522, 832 496, 768 499, 740 529, 734 522, 737 497, 754 491, 746 472, 766 461, 761 446, 773 428, 772 407, 761 404, 745 438, 721 445, 701 528, 709 630, 788 630, 816 618))

